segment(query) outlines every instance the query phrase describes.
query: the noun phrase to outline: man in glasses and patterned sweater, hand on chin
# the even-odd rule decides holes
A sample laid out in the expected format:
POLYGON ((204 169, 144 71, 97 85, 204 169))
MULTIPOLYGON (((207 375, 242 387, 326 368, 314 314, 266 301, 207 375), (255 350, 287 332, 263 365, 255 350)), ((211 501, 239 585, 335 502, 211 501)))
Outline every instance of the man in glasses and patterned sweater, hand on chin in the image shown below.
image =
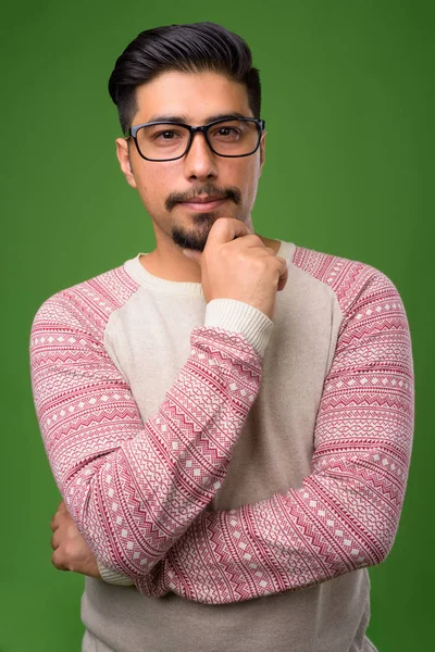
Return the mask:
POLYGON ((366 264, 253 233, 247 45, 141 33, 109 89, 156 249, 39 309, 35 404, 87 575, 83 650, 366 652, 413 427, 409 327, 366 264))

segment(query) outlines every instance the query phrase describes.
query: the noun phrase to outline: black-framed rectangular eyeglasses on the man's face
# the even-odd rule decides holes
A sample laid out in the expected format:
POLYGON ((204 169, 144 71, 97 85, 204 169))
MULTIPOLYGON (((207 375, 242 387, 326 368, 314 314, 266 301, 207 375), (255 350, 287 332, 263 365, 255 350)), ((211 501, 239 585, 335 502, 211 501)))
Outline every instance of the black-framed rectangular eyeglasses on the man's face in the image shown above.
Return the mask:
POLYGON ((215 120, 192 127, 177 122, 151 122, 135 125, 128 134, 137 151, 147 161, 176 161, 190 149, 195 134, 204 135, 214 154, 234 159, 253 154, 260 145, 265 122, 254 117, 215 120))

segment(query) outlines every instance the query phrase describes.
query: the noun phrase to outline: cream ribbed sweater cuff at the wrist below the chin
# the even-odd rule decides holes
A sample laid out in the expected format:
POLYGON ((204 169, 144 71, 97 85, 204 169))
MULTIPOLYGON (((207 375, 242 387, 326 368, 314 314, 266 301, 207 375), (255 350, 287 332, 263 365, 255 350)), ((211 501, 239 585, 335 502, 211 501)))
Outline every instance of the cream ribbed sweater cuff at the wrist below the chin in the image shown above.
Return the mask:
POLYGON ((240 333, 263 356, 273 322, 253 305, 236 299, 213 299, 207 304, 204 326, 240 333))

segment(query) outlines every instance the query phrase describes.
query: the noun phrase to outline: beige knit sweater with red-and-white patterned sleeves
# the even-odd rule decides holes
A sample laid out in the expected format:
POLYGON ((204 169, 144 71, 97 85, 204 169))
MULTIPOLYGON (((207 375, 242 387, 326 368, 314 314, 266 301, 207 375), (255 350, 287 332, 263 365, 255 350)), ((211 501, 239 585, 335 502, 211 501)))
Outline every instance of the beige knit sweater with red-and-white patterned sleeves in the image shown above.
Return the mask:
POLYGON ((89 632, 116 652, 373 650, 366 567, 413 428, 397 289, 281 241, 272 322, 140 255, 50 297, 30 335, 47 455, 107 580, 86 578, 89 632))

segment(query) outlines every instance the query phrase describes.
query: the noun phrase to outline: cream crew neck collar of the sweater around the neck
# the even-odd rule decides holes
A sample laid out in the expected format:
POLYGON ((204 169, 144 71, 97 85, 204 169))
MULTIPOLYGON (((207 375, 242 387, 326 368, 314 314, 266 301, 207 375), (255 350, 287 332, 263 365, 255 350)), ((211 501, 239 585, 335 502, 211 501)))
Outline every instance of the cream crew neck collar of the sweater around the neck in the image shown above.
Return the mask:
MULTIPOLYGON (((287 263, 291 263, 293 254, 296 246, 293 242, 286 242, 278 240, 279 249, 276 255, 285 258, 287 263)), ((185 280, 167 280, 166 278, 160 278, 154 276, 144 267, 140 262, 141 255, 148 255, 148 253, 139 252, 135 258, 126 261, 124 267, 126 272, 144 288, 149 288, 159 292, 170 294, 190 294, 203 298, 202 286, 200 283, 185 281, 185 280)))

